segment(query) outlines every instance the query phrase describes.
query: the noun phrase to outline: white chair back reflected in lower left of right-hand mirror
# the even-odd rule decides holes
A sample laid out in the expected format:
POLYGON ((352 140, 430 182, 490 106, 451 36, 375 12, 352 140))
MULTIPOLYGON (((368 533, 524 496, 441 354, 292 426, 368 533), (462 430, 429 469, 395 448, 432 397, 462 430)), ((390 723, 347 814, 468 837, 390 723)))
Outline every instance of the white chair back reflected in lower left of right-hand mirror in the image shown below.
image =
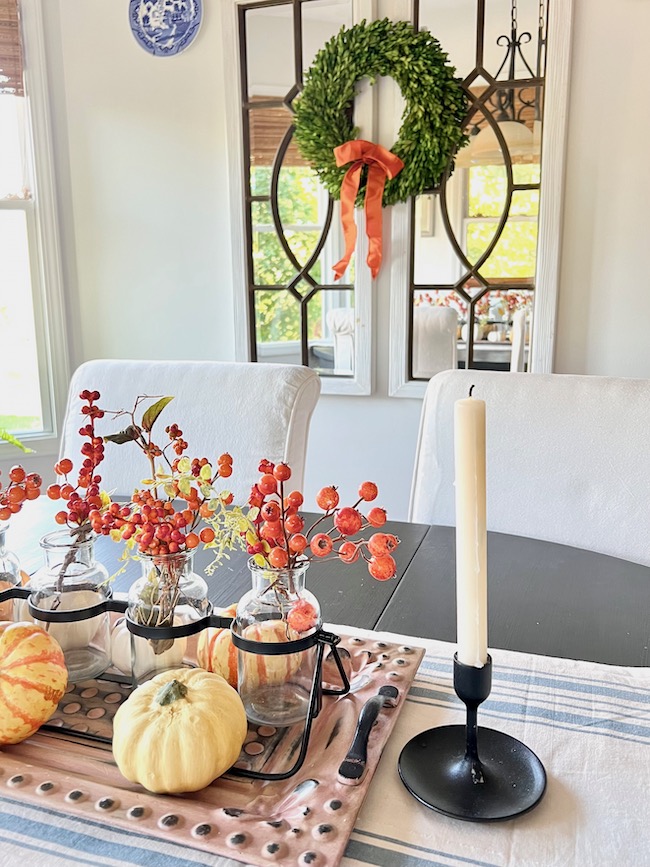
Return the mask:
POLYGON ((451 307, 413 310, 413 376, 430 379, 458 365, 458 314, 451 307))

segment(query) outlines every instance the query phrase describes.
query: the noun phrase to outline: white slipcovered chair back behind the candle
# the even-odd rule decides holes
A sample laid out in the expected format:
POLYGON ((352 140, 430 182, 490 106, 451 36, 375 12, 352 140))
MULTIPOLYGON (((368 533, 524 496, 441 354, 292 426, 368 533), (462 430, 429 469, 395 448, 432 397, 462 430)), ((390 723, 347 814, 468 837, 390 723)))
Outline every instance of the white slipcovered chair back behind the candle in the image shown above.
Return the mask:
POLYGON ((650 565, 650 380, 439 374, 422 406, 410 520, 455 525, 454 403, 471 385, 486 402, 488 529, 650 565))

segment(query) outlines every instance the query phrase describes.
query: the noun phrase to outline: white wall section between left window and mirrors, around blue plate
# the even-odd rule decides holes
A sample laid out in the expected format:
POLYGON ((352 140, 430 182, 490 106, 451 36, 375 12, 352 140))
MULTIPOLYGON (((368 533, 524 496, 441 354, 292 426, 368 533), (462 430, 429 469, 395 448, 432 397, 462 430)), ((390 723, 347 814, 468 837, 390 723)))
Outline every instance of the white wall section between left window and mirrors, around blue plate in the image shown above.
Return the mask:
POLYGON ((128 3, 43 5, 57 162, 69 180, 61 201, 73 362, 232 357, 217 5, 204 4, 191 50, 173 58, 137 44, 128 3))

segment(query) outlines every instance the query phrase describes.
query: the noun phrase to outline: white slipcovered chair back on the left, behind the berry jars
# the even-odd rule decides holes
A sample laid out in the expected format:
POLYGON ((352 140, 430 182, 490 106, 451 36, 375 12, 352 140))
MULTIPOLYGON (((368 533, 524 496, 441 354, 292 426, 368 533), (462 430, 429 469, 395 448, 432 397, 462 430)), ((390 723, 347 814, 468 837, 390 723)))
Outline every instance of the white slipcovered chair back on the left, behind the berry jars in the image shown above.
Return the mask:
MULTIPOLYGON (((235 502, 246 501, 259 478, 261 458, 286 461, 292 468, 291 484, 302 486, 305 453, 312 412, 320 394, 314 371, 298 365, 251 364, 218 361, 97 360, 82 364, 73 374, 63 422, 60 455, 80 464, 84 423, 79 394, 84 389, 101 394, 98 405, 107 410, 133 408, 138 395, 172 395, 154 428, 154 442, 164 445, 165 427, 176 423, 188 442, 190 457, 233 456, 233 475, 227 480, 235 502)), ((150 403, 150 402, 149 402, 150 403)), ((139 423, 145 403, 136 414, 139 423)), ((108 415, 96 425, 101 435, 116 433, 130 424, 128 415, 108 415)), ((146 457, 134 443, 106 443, 99 472, 102 487, 129 496, 150 475, 146 457)), ((225 480, 224 480, 225 482, 225 480)))

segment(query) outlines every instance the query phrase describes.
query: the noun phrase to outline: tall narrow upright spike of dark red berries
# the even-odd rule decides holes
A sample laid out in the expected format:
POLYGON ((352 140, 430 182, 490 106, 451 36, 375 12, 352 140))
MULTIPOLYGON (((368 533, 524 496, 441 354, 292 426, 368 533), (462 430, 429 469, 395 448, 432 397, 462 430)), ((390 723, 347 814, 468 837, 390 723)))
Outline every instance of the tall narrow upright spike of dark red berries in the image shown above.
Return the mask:
POLYGON ((101 508, 99 484, 102 477, 97 473, 97 467, 104 460, 104 441, 95 432, 95 422, 104 417, 104 411, 97 406, 100 394, 98 391, 84 389, 79 395, 84 406, 82 415, 88 419, 87 424, 79 428, 79 434, 86 439, 81 446, 83 461, 77 474, 77 484, 73 485, 68 476, 74 469, 70 458, 62 458, 54 465, 57 476, 63 476, 63 484, 56 483, 47 489, 51 500, 65 500, 67 509, 62 509, 54 516, 57 524, 68 527, 82 527, 89 519, 90 513, 101 508))

